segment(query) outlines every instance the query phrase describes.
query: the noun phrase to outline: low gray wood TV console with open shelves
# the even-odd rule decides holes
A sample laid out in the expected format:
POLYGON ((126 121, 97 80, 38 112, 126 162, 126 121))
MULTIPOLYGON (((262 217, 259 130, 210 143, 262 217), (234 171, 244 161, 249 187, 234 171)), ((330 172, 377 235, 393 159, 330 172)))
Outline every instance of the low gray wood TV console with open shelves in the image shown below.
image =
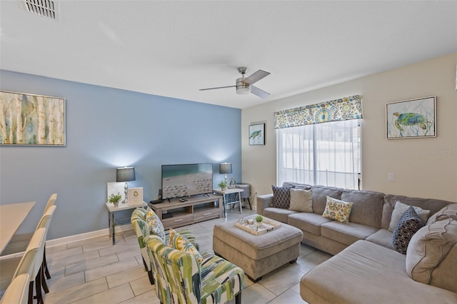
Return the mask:
POLYGON ((199 223, 211 218, 221 218, 223 201, 221 196, 191 196, 180 201, 174 198, 164 203, 151 204, 165 229, 199 223))

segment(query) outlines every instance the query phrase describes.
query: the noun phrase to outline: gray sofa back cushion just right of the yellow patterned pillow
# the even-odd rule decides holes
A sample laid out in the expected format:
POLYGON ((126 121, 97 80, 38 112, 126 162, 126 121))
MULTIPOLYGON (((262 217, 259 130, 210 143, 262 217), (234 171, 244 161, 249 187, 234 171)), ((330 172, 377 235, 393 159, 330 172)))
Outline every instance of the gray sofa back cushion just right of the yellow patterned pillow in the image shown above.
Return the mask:
POLYGON ((341 201, 352 202, 350 222, 381 228, 384 193, 344 189, 341 201))

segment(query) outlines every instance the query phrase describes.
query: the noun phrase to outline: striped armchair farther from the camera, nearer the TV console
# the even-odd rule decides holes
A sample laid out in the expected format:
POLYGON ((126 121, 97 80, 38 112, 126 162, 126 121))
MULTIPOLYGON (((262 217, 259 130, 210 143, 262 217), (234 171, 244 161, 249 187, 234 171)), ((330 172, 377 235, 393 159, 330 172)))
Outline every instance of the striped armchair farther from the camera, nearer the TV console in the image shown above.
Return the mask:
MULTIPOLYGON (((131 225, 134 227, 136 238, 141 250, 141 256, 143 257, 144 269, 148 272, 149 282, 151 285, 154 285, 154 275, 152 274, 151 263, 149 263, 149 255, 146 250, 146 244, 144 243, 144 238, 148 235, 158 235, 159 238, 162 238, 164 242, 169 241, 169 235, 165 234, 164 225, 159 219, 159 216, 152 211, 151 208, 136 208, 134 212, 131 213, 131 225)), ((199 244, 196 242, 196 237, 194 233, 190 230, 182 230, 179 233, 184 235, 192 244, 198 249, 199 244)))

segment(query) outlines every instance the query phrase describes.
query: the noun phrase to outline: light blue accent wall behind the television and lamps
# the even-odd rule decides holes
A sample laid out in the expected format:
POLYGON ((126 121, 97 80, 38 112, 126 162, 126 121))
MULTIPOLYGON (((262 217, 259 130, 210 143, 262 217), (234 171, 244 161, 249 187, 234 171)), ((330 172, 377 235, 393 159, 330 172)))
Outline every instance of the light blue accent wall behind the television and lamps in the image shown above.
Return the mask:
MULTIPOLYGON (((241 181, 241 110, 0 70, 0 89, 66 98, 66 146, 0 146, 0 203, 36 201, 31 232, 58 193, 48 238, 108 228, 106 183, 134 166, 144 201, 158 196, 161 165, 214 163, 214 186, 233 164, 241 181)), ((177 88, 179 89, 179 88, 177 88)))

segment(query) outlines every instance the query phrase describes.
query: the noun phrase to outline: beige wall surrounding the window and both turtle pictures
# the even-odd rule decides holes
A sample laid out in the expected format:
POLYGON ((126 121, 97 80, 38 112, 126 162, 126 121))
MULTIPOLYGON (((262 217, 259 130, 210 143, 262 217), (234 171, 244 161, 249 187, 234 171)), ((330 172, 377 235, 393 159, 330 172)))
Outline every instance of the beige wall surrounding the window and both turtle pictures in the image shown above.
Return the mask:
POLYGON ((276 185, 273 112, 360 94, 363 188, 457 201, 457 53, 243 109, 242 180, 252 193, 276 185), (436 138, 386 139, 386 103, 436 96, 436 138), (266 145, 248 145, 248 126, 266 123, 266 145), (387 181, 387 173, 395 181, 387 181))

